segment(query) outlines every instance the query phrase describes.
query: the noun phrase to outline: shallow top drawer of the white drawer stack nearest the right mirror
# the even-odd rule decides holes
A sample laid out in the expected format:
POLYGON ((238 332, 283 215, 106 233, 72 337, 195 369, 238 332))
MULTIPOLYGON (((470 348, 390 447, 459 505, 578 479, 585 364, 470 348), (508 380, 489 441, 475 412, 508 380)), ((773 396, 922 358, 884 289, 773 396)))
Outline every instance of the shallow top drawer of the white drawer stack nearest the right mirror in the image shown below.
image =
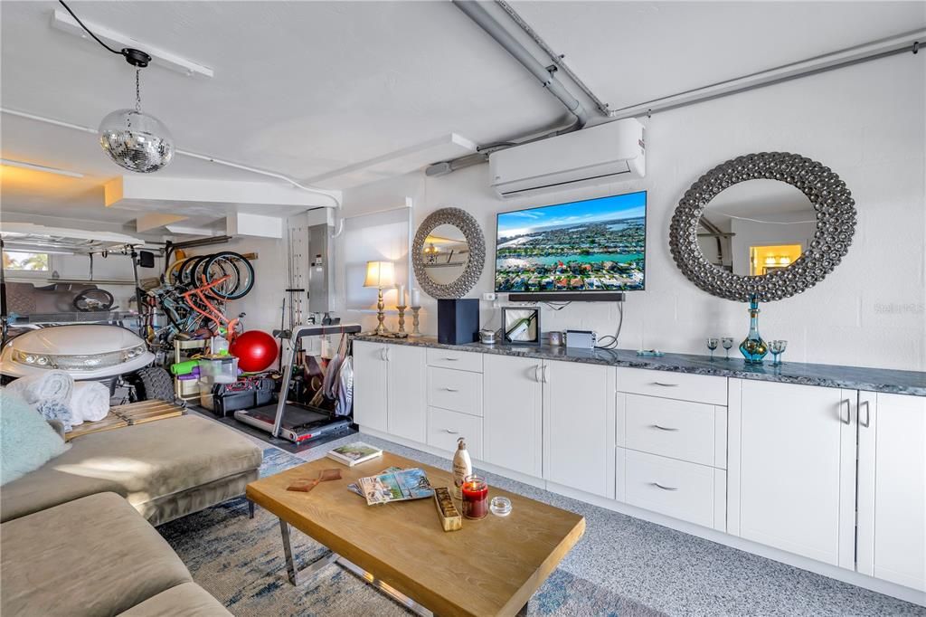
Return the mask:
POLYGON ((727 405, 727 378, 618 367, 618 390, 650 397, 727 405))

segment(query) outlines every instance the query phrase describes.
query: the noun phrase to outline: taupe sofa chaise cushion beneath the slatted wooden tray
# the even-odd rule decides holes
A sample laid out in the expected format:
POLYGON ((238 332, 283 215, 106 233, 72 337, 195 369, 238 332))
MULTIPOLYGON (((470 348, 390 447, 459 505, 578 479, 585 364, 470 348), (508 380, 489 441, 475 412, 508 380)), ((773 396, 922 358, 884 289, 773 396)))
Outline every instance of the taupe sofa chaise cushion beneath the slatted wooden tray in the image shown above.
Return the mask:
POLYGON ((217 422, 181 416, 76 437, 68 452, 0 492, 0 521, 111 491, 136 510, 163 497, 253 472, 263 453, 217 422))

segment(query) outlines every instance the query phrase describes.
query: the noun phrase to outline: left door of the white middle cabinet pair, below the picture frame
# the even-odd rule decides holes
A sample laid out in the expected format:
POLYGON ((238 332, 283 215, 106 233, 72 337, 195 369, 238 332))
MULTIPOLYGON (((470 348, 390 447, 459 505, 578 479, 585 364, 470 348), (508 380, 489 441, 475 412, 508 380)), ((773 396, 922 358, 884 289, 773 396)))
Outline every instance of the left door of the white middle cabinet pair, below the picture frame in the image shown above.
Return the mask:
POLYGON ((543 477, 543 361, 486 354, 482 458, 543 477))

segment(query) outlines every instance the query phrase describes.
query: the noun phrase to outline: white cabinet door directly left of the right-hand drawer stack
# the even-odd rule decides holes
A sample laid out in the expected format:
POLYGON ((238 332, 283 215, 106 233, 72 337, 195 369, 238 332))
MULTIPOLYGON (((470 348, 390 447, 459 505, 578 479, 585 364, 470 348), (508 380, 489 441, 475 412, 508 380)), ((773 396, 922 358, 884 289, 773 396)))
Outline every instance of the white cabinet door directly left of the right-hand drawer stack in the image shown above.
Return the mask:
POLYGON ((613 367, 544 360, 544 479, 614 498, 613 367))

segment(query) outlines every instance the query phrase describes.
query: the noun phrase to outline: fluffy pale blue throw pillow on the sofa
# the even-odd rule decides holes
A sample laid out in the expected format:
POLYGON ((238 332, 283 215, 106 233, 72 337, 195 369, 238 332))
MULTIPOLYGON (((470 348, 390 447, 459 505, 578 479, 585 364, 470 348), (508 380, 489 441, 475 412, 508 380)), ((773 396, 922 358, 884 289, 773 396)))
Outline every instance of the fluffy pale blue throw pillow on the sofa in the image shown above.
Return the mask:
POLYGON ((0 485, 34 472, 68 447, 34 407, 0 389, 0 485))

